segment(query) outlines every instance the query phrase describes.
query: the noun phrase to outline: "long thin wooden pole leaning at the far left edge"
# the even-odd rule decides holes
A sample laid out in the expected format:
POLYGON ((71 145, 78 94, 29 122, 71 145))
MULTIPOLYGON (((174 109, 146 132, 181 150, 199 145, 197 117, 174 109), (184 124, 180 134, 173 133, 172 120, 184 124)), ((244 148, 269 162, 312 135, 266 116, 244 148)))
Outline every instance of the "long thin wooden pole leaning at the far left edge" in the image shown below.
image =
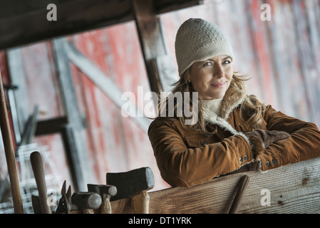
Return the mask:
POLYGON ((6 165, 8 166, 9 179, 11 185, 11 195, 14 201, 14 213, 24 214, 22 205, 21 192, 19 187, 18 174, 16 171, 16 159, 14 157, 14 145, 11 138, 11 130, 9 125, 8 113, 6 112, 6 100, 4 98, 4 87, 2 85, 0 71, 0 125, 1 135, 4 140, 4 152, 6 154, 6 165))

